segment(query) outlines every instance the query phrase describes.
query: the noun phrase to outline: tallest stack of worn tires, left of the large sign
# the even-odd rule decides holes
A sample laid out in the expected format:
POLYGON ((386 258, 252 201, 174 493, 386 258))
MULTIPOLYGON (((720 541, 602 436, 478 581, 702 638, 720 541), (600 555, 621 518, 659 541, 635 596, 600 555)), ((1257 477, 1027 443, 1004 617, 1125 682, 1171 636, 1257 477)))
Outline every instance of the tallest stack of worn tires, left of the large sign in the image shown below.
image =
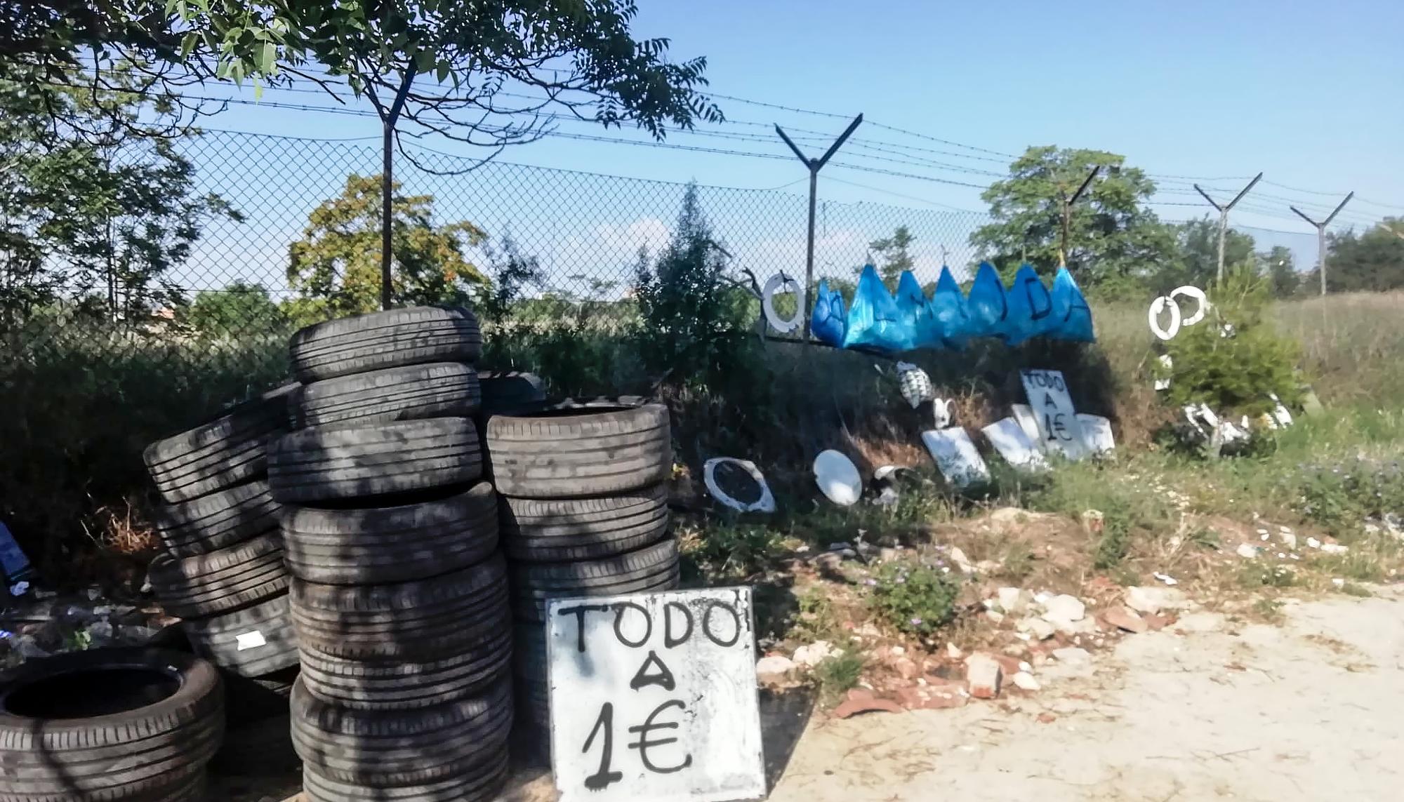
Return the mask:
POLYGON ((302 674, 309 802, 490 799, 511 705, 497 498, 470 415, 477 322, 406 308, 299 331, 270 453, 302 674))

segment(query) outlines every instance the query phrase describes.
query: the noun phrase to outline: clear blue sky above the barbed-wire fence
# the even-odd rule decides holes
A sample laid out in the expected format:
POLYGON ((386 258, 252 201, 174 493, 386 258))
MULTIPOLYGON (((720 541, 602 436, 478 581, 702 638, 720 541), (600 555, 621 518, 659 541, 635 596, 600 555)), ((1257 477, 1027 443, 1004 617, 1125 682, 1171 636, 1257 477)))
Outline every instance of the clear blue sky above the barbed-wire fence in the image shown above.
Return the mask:
MULTIPOLYGON (((1097 147, 1163 177, 1206 181, 1227 199, 1238 177, 1265 181, 1234 222, 1309 233, 1287 203, 1324 216, 1338 199, 1358 199, 1342 223, 1404 216, 1404 4, 1341 0, 1331 4, 1236 0, 1233 3, 837 3, 827 0, 705 4, 640 0, 636 32, 670 36, 677 59, 705 55, 712 90, 754 101, 837 115, 862 112, 855 135, 945 150, 924 154, 974 171, 1002 171, 1007 158, 876 128, 896 126, 988 151, 1019 153, 1029 144, 1097 147), (994 161, 990 161, 994 158, 994 161), (1280 185, 1280 186, 1279 186, 1280 185), (1290 189, 1289 189, 1290 188, 1290 189), (1370 203, 1373 202, 1373 203, 1370 203)), ((251 100, 251 90, 240 97, 251 100)), ((265 93, 264 101, 317 104, 316 95, 265 93)), ((741 123, 779 122, 837 133, 840 118, 786 112, 720 100, 741 123)), ((236 105, 211 128, 317 137, 371 136, 376 123, 236 105)), ((563 132, 644 139, 563 123, 563 132)), ((712 130, 767 135, 729 125, 712 130)), ((788 156, 776 139, 717 140, 673 135, 668 142, 788 156)), ((806 144, 816 151, 823 146, 806 144)), ((452 143, 435 147, 469 153, 452 143)), ((869 150, 869 154, 882 151, 869 150)), ((904 158, 915 151, 904 150, 904 158)), ((838 202, 983 209, 979 189, 932 179, 986 184, 991 178, 922 165, 858 161, 921 174, 925 179, 833 168, 821 195, 838 202), (840 181, 858 182, 866 188, 840 181)), ((622 144, 546 139, 508 150, 521 164, 688 181, 723 186, 786 186, 803 192, 803 167, 781 158, 747 158, 622 144)), ((1163 203, 1202 203, 1188 181, 1161 179, 1163 203)), ((1207 206, 1157 206, 1168 219, 1207 206)), ((658 217, 667 220, 670 209, 658 217)), ((637 223, 637 222, 633 222, 637 223)), ((628 226, 618 220, 612 226, 628 226)), ((1271 238, 1271 234, 1265 234, 1271 238)), ((1259 237, 1262 240, 1264 237, 1259 237)), ((1280 237, 1304 257, 1310 237, 1280 237)), ((1306 265, 1303 265, 1306 266, 1306 265)))

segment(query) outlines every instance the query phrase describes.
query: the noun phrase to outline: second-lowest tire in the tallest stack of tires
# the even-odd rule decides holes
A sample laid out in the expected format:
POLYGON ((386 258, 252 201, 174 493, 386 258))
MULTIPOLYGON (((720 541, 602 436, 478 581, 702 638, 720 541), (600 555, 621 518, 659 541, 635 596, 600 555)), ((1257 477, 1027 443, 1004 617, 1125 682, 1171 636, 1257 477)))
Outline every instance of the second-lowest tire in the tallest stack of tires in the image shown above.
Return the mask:
POLYGON ((491 761, 512 726, 511 680, 409 711, 352 711, 292 688, 292 743, 320 777, 369 788, 427 785, 491 761))

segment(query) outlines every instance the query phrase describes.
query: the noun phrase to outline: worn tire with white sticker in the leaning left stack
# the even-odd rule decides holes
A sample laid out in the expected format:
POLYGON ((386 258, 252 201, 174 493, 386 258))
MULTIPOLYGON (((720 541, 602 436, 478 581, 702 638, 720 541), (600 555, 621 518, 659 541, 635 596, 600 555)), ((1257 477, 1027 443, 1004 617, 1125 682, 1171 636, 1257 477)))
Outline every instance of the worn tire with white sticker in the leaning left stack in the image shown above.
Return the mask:
POLYGON ((286 593, 181 625, 197 655, 236 674, 260 677, 298 665, 298 638, 286 593))

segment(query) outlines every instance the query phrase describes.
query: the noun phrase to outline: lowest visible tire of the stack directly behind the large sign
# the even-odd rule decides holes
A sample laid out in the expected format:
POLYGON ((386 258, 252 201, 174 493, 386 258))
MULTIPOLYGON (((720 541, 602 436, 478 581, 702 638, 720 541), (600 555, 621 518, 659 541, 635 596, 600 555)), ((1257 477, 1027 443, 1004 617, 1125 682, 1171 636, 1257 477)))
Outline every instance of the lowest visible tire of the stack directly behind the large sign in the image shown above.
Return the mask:
POLYGON ((518 621, 545 621, 550 599, 651 593, 677 586, 678 544, 673 540, 605 559, 519 562, 511 568, 512 616, 518 621))

